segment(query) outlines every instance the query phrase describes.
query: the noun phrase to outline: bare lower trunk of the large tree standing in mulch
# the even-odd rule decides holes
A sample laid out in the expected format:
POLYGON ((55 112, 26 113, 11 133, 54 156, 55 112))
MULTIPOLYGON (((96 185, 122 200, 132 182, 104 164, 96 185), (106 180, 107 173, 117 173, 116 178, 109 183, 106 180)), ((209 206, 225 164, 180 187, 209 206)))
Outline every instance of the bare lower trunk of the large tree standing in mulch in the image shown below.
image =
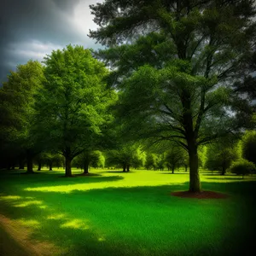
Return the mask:
POLYGON ((189 192, 201 192, 197 147, 189 145, 189 192))

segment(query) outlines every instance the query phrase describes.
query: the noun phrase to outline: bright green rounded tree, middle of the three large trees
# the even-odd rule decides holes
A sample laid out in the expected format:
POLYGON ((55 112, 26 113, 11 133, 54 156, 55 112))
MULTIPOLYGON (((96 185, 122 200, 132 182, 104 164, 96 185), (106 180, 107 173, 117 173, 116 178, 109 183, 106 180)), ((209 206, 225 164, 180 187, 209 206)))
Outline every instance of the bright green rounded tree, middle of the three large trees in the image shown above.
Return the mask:
POLYGON ((36 104, 38 133, 65 157, 65 176, 71 177, 73 158, 92 147, 110 118, 113 94, 102 82, 108 70, 78 45, 54 50, 44 63, 47 80, 36 104))

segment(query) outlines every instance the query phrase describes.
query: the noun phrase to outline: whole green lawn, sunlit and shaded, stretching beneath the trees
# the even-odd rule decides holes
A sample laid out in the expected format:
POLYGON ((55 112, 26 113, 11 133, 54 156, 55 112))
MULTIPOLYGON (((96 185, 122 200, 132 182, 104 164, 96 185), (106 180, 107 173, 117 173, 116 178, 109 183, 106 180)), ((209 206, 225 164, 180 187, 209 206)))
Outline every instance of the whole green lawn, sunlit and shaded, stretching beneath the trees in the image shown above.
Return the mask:
POLYGON ((0 171, 4 255, 253 255, 256 176, 201 172, 203 189, 229 197, 199 200, 171 195, 189 188, 185 172, 91 173, 0 171))

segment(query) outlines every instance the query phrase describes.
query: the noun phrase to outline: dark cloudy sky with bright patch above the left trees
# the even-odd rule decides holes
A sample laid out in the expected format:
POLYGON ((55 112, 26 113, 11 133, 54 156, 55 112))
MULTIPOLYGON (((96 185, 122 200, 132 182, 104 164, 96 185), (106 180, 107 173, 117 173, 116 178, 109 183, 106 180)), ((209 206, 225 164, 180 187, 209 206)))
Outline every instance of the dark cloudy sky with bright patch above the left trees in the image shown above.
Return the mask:
POLYGON ((53 49, 80 44, 98 49, 88 38, 96 29, 90 4, 103 0, 0 0, 0 86, 10 70, 26 61, 43 61, 53 49))

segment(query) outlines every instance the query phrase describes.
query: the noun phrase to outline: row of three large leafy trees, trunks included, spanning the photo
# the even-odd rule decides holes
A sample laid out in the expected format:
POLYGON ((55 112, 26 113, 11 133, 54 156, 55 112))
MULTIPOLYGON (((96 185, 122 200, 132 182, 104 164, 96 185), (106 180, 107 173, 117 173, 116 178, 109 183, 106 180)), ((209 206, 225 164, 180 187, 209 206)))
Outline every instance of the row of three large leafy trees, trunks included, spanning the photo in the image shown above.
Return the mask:
POLYGON ((69 177, 84 152, 175 144, 189 155, 189 191, 200 192, 200 148, 241 136, 253 120, 253 0, 106 0, 90 9, 99 26, 90 38, 105 49, 68 45, 3 84, 1 156, 26 152, 32 172, 38 152, 55 150, 69 177))

